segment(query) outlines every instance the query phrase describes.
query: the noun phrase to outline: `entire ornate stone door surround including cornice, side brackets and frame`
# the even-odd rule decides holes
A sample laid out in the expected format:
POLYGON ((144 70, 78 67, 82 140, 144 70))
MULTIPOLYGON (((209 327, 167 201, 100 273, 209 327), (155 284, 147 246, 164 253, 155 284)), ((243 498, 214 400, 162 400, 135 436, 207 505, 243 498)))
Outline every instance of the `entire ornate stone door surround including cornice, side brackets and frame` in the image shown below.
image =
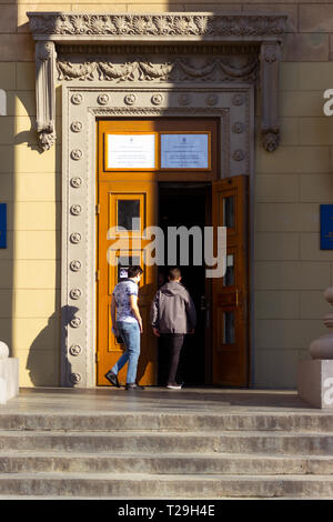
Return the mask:
MULTIPOLYGON (((37 42, 37 122, 56 140, 62 86, 61 385, 95 385, 95 121, 220 119, 220 179, 254 173, 254 92, 263 147, 279 145, 285 16, 29 13, 37 42)), ((251 197, 250 197, 251 200, 251 197)), ((250 231, 252 229, 252 221, 250 231)))

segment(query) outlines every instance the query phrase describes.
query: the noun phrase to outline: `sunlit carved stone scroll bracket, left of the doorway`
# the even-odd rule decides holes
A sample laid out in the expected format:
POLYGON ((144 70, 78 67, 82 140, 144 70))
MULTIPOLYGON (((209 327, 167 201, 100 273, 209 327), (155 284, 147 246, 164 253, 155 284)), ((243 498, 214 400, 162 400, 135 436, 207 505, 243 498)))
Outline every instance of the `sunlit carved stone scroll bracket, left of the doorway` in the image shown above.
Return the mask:
POLYGON ((36 42, 37 132, 42 150, 56 141, 56 56, 54 42, 36 42))

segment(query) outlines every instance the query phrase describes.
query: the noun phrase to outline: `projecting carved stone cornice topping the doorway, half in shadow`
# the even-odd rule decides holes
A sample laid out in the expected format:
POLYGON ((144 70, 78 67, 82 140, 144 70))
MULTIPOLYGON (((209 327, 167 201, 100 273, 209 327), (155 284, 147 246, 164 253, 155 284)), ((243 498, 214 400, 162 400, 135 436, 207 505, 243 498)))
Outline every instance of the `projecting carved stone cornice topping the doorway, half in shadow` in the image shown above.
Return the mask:
POLYGON ((34 40, 163 42, 279 39, 286 14, 28 12, 34 40))

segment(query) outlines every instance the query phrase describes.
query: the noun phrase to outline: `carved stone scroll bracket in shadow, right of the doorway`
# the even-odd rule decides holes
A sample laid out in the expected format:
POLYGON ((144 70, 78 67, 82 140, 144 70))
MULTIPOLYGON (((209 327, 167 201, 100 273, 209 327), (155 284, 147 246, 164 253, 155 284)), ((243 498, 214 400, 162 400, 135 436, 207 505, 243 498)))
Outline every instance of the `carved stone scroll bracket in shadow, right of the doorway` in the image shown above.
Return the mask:
POLYGON ((280 143, 279 124, 279 66, 280 42, 261 44, 261 137, 266 151, 272 152, 280 143))

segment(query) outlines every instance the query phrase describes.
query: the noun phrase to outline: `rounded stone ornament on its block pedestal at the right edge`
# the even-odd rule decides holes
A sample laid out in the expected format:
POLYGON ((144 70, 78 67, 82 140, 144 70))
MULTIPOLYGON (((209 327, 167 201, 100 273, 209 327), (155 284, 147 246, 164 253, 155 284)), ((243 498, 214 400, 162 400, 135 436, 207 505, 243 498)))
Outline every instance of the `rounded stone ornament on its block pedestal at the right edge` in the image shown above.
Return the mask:
MULTIPOLYGON (((324 292, 333 305, 333 287, 324 292)), ((323 320, 329 333, 310 344, 312 360, 300 361, 297 389, 300 396, 315 408, 333 409, 333 312, 323 320)))

